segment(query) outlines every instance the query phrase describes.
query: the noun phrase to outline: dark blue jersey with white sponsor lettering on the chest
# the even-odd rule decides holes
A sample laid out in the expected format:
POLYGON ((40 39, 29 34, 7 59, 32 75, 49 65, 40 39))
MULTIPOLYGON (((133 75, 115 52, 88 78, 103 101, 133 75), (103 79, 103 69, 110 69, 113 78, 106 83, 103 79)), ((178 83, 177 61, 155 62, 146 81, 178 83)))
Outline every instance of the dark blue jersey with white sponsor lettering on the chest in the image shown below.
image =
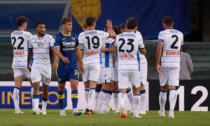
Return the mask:
POLYGON ((58 58, 59 69, 77 69, 76 48, 79 46, 78 36, 75 33, 64 35, 62 32, 55 36, 55 46, 60 47, 60 52, 63 56, 67 57, 70 63, 66 64, 58 58))

